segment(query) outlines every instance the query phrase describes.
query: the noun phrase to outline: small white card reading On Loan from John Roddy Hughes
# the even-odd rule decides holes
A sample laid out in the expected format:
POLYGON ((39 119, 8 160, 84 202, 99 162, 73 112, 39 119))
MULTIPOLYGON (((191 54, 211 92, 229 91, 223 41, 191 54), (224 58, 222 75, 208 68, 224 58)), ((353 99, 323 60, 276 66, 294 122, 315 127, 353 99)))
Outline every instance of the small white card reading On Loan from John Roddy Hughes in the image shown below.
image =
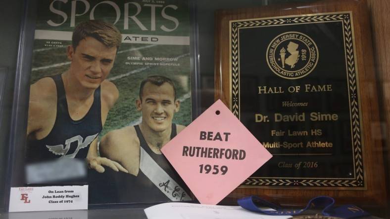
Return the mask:
POLYGON ((88 209, 88 185, 12 187, 9 212, 88 209))

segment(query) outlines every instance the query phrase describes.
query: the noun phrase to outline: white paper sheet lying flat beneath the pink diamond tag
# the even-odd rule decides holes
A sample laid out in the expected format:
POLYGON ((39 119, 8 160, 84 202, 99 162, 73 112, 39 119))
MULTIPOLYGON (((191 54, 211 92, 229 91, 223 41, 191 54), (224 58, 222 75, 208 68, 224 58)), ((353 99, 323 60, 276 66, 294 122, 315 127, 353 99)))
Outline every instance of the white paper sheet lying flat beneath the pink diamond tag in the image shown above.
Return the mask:
MULTIPOLYGON (((271 209, 263 209, 271 210, 271 209)), ((288 219, 253 213, 240 206, 201 205, 169 202, 145 209, 148 219, 288 219)))

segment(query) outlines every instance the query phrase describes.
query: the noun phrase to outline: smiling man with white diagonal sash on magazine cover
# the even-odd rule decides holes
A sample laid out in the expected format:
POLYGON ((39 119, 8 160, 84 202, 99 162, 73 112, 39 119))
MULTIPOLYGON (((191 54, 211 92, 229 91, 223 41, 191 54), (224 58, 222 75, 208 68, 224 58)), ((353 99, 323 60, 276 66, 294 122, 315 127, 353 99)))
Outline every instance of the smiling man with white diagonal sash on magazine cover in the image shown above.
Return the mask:
MULTIPOLYGON (((90 181, 91 189, 110 190, 102 192, 116 203, 191 200, 185 183, 160 150, 185 128, 172 124, 180 109, 172 80, 159 75, 143 80, 136 108, 142 112, 140 124, 113 130, 100 142, 102 156, 119 162, 129 174, 107 172, 105 179, 90 181)), ((104 203, 99 195, 90 194, 90 202, 104 203)))

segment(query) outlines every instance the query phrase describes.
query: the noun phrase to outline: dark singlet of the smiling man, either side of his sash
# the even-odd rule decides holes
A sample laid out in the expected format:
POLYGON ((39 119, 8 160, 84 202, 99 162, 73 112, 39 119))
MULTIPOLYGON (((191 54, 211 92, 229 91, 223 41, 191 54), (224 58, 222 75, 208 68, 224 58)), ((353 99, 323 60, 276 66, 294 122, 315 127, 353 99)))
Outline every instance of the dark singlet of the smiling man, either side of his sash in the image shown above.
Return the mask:
MULTIPOLYGON (((138 125, 134 126, 140 146, 152 157, 152 159, 173 179, 180 184, 187 194, 189 189, 179 174, 173 169, 163 154, 154 153, 147 145, 144 135, 138 125)), ((172 124, 171 139, 177 134, 176 124, 172 124)), ((90 204, 103 203, 157 203, 171 201, 164 195, 140 170, 138 176, 115 172, 111 168, 105 168, 103 174, 89 171, 89 202, 90 204)))

